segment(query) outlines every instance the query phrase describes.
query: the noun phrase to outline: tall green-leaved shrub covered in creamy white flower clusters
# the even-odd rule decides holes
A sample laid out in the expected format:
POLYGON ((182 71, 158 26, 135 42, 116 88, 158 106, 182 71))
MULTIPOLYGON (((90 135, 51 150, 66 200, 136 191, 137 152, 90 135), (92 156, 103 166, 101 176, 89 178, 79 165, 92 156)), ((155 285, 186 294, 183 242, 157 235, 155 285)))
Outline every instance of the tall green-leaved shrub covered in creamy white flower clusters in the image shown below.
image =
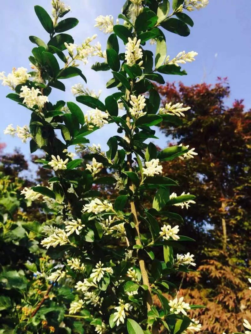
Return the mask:
MULTIPOLYGON (((172 205, 188 208, 195 203, 195 196, 185 192, 180 196, 170 194, 169 187, 178 184, 161 175, 161 162, 178 157, 189 159, 196 153, 182 145, 158 152, 153 143, 145 141, 157 139, 153 126, 163 121, 170 126, 179 125, 180 117, 189 110, 181 103, 168 103, 159 109, 160 96, 153 81, 164 83, 162 74, 186 75, 179 64, 193 61, 196 56, 194 51, 183 51, 170 60, 163 29, 188 36, 188 25, 193 26, 193 21, 184 11, 200 9, 207 1, 174 0, 171 12, 167 0, 126 1, 115 25, 111 16, 96 19, 96 26, 110 33, 105 51, 100 43, 94 44, 96 35, 80 46, 74 44, 72 36, 64 32, 76 26, 78 20, 63 18, 70 9, 61 1, 54 0, 52 5, 53 19, 42 7, 35 6, 35 13, 50 37, 45 43, 30 36, 37 45, 29 57, 33 71, 27 73, 20 68, 7 77, 1 73, 4 85, 14 91, 7 97, 31 112, 29 127, 15 130, 8 126, 6 133, 18 133, 25 140, 31 138, 31 153, 37 149, 45 152, 44 159, 37 162, 55 173, 48 180, 49 187, 38 185, 23 190, 26 199, 44 201, 56 214, 41 231, 41 245, 56 263, 45 274, 50 286, 44 298, 29 317, 22 319, 26 322, 22 328, 29 328, 40 308, 46 312, 44 303, 53 298, 54 290, 67 285, 74 291, 74 300, 64 318, 81 319, 85 332, 199 331, 199 320, 190 319, 188 312, 201 306, 186 303, 178 296, 177 287, 173 299, 167 300, 163 295, 173 294, 171 274, 192 271, 190 266, 195 265, 189 253, 174 256, 177 250, 184 250, 184 241, 194 240, 178 235, 176 223, 183 219, 170 211, 172 205), (150 40, 151 44, 156 43, 155 60, 145 48, 150 40), (106 87, 116 87, 118 91, 102 102, 99 95, 81 84, 75 85, 72 91, 76 101, 91 108, 85 115, 73 102, 58 101, 53 105, 49 101, 52 88, 65 91, 62 79, 80 76, 86 81, 78 61, 86 64, 90 56, 103 59, 92 69, 111 69, 112 78, 106 87), (107 152, 102 152, 99 144, 86 145, 88 134, 108 123, 117 125, 118 134, 108 140, 107 152), (57 136, 58 130, 63 141, 57 136), (76 146, 83 158, 91 159, 91 164, 77 168, 84 161, 74 159, 68 152, 71 146, 76 146), (99 177, 103 167, 114 175, 99 177), (109 198, 99 198, 101 185, 112 185, 118 190, 114 203, 109 198), (145 205, 149 198, 150 208, 145 205), (167 221, 163 226, 158 223, 160 216, 167 221), (153 303, 153 296, 159 299, 161 307, 153 303)), ((65 320, 58 332, 64 324, 65 320)))

